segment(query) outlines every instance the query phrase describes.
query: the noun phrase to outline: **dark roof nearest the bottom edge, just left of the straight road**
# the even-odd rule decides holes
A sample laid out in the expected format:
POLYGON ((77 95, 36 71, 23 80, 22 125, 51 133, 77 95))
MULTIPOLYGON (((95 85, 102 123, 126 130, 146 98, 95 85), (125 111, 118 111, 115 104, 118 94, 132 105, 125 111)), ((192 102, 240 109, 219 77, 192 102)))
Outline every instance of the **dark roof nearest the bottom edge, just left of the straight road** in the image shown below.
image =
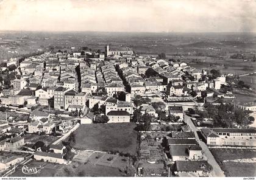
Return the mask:
POLYGON ((208 171, 210 167, 207 161, 176 161, 177 171, 208 171))

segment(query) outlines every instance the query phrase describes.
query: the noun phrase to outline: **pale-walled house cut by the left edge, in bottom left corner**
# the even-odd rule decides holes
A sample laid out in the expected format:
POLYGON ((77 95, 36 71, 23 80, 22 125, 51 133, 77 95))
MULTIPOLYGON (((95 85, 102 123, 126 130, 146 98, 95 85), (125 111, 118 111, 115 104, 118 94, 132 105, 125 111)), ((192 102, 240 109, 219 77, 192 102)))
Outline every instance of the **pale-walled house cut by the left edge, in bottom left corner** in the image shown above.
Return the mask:
POLYGON ((1 156, 0 157, 0 171, 9 169, 10 167, 19 164, 24 160, 24 157, 18 156, 1 156))

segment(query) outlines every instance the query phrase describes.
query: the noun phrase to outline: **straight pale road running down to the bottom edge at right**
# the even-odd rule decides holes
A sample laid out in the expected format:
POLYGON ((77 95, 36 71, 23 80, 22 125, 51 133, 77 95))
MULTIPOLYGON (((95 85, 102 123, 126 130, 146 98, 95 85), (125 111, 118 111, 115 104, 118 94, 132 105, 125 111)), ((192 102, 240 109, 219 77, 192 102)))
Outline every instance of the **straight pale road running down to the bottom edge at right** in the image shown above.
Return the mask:
POLYGON ((199 136, 197 135, 197 132, 196 132, 197 131, 196 126, 194 125, 194 123, 192 122, 190 117, 187 116, 186 114, 184 114, 184 122, 187 123, 188 126, 190 126, 192 131, 194 131, 196 139, 199 142, 199 145, 201 146, 203 153, 207 157, 208 163, 210 165, 212 165, 212 167, 213 167, 212 176, 213 177, 225 177, 224 172, 221 170, 221 167, 219 167, 219 164, 216 162, 215 158, 213 157, 213 154, 211 153, 211 151, 209 150, 207 145, 204 142, 202 142, 202 140, 199 139, 199 136))

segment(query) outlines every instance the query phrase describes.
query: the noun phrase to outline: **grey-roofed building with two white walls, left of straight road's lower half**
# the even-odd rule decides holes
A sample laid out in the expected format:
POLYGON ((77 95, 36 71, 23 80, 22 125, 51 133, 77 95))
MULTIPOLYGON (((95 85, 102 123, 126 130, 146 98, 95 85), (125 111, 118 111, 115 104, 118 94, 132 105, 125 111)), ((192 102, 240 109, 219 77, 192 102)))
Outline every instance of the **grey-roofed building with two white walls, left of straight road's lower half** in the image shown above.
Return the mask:
POLYGON ((172 161, 198 160, 202 159, 202 148, 196 145, 170 145, 169 152, 172 161))

